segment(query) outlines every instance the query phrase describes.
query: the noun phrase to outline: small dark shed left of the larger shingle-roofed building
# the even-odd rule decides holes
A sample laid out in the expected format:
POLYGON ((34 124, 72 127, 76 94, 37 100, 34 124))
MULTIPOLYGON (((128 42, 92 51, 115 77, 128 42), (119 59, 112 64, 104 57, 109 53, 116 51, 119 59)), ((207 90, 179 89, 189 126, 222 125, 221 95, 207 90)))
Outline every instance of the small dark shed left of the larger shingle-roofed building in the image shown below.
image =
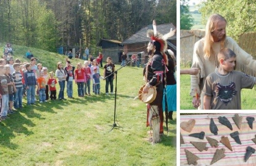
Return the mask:
POLYGON ((97 44, 102 48, 103 61, 106 62, 108 57, 111 57, 114 64, 120 62, 120 57, 123 51, 122 42, 117 40, 101 39, 97 44))

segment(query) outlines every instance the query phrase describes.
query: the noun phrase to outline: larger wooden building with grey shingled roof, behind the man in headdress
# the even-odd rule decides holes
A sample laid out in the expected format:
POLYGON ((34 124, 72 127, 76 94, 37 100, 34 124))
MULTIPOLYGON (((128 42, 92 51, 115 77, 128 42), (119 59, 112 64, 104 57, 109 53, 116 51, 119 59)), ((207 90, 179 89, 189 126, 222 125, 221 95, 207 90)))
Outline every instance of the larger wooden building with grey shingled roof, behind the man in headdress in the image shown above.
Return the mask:
MULTIPOLYGON (((161 34, 167 34, 170 29, 175 30, 176 27, 172 23, 157 25, 157 31, 161 34)), ((143 27, 141 30, 136 32, 134 35, 124 40, 121 44, 123 45, 123 51, 127 53, 127 56, 131 58, 132 54, 137 54, 144 51, 145 53, 141 57, 141 63, 147 63, 147 44, 149 38, 147 37, 147 30, 152 30, 152 25, 143 27)), ((171 49, 176 56, 176 34, 167 40, 168 49, 171 49)))

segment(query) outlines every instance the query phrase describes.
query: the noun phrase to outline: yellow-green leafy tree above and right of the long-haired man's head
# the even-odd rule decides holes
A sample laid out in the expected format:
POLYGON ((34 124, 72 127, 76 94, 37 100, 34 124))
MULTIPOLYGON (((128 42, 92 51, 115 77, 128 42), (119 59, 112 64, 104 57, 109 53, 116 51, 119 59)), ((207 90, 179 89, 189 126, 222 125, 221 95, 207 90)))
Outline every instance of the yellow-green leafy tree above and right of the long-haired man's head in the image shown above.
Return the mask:
POLYGON ((252 0, 238 1, 205 1, 199 10, 204 22, 213 14, 218 13, 227 20, 226 31, 228 36, 238 40, 245 32, 255 31, 256 27, 256 5, 252 0))

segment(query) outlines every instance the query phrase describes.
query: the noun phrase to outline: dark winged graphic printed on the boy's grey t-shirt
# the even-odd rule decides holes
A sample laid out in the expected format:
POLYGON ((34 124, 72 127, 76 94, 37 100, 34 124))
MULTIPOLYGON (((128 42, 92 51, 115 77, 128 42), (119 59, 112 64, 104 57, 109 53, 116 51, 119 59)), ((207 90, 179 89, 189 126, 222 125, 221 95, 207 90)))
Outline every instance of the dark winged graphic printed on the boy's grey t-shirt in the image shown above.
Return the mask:
POLYGON ((231 102, 236 94, 235 82, 231 82, 228 86, 222 86, 219 83, 215 85, 214 95, 216 98, 219 98, 221 102, 225 103, 225 105, 231 102))

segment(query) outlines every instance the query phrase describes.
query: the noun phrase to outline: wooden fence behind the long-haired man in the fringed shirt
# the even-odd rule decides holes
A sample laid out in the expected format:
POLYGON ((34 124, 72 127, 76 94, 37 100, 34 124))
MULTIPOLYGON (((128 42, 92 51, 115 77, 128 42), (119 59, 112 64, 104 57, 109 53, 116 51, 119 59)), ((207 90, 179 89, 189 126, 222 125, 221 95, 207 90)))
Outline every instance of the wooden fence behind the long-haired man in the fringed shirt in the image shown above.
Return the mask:
MULTIPOLYGON (((181 64, 191 66, 194 44, 204 36, 204 30, 181 30, 181 64)), ((238 45, 256 59, 256 33, 245 33, 238 45)))

